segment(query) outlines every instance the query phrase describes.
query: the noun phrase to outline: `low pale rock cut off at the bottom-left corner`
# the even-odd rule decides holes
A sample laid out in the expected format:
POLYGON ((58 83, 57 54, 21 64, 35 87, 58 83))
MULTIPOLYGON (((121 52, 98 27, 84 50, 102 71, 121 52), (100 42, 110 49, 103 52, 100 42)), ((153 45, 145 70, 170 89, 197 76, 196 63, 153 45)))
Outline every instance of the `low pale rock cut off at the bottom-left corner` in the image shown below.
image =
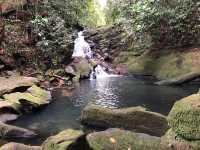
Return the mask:
POLYGON ((0 147, 0 150, 42 150, 40 146, 29 146, 20 143, 8 143, 0 147))

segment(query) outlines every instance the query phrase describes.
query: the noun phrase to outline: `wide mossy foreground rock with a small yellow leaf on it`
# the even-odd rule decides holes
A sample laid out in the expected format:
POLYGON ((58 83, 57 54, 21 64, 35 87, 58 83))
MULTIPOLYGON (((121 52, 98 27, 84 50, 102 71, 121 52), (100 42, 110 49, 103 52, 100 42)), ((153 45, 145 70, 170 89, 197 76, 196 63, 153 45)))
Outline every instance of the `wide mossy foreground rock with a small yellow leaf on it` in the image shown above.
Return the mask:
POLYGON ((109 129, 87 135, 92 150, 167 150, 160 138, 120 129, 109 129))

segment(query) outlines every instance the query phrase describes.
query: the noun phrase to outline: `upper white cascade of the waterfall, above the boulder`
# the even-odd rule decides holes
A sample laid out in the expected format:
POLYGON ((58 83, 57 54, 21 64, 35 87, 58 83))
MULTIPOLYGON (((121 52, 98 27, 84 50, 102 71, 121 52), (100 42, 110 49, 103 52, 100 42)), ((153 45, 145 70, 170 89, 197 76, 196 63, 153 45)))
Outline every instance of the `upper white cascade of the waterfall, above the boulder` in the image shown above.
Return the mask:
POLYGON ((83 31, 78 33, 78 37, 74 41, 74 52, 72 57, 83 57, 91 59, 93 54, 90 45, 85 41, 83 31))

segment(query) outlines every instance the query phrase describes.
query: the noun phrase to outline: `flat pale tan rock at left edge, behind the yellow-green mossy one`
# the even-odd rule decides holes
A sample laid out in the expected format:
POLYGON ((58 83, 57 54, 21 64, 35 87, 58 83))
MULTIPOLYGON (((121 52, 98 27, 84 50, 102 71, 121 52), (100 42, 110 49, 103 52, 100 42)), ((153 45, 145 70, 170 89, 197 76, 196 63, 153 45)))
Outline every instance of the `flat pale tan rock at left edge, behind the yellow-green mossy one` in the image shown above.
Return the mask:
POLYGON ((37 83, 39 83, 39 81, 32 77, 0 77, 0 96, 6 93, 10 93, 17 88, 31 87, 37 83))

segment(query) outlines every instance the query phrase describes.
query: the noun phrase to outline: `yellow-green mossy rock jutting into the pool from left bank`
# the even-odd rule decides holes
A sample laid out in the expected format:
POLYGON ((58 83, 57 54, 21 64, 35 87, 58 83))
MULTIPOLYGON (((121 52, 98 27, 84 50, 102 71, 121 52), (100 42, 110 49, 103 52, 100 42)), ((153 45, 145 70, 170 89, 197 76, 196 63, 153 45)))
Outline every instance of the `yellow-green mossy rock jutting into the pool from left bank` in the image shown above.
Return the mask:
POLYGON ((40 107, 50 103, 51 93, 33 85, 27 92, 5 94, 3 97, 11 103, 22 105, 22 107, 27 104, 33 105, 34 107, 40 107))

